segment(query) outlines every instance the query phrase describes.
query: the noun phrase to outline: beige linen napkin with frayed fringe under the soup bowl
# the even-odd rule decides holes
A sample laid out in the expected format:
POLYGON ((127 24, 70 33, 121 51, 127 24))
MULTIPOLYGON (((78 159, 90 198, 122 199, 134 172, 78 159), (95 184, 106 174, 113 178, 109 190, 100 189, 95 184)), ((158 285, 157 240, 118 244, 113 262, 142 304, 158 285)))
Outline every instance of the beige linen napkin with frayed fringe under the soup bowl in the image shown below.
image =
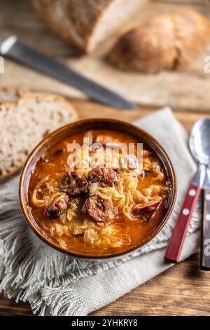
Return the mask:
MULTIPOLYGON (((0 239, 4 244, 0 257, 0 291, 8 298, 28 301, 39 315, 87 315, 172 266, 165 263, 165 246, 196 171, 188 150, 188 135, 169 108, 134 124, 160 141, 176 168, 178 197, 167 225, 131 256, 107 263, 75 259, 51 249, 31 232, 18 206, 17 176, 0 186, 0 239)), ((198 204, 182 259, 196 251, 199 227, 198 204)))

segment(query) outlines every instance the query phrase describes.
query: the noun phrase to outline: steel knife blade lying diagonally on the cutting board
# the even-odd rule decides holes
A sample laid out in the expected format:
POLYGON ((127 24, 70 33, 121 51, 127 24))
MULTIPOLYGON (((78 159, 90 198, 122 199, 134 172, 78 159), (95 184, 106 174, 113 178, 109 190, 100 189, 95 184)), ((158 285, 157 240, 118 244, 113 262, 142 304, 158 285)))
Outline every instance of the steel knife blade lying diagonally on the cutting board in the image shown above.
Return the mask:
POLYGON ((66 65, 45 56, 33 48, 22 43, 17 37, 11 36, 0 42, 0 54, 18 61, 31 69, 55 78, 67 85, 83 91, 94 100, 116 107, 118 109, 135 109, 136 105, 130 103, 118 93, 114 93, 100 84, 84 77, 66 65))

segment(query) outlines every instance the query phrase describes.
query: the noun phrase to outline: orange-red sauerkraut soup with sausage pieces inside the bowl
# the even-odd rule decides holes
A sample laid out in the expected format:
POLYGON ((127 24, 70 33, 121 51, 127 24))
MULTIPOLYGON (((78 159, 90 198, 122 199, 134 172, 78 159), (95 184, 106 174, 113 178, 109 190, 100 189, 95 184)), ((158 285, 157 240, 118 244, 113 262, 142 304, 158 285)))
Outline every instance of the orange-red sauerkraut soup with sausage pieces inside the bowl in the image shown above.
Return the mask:
MULTIPOLYGON (((166 213, 170 190, 167 173, 145 144, 143 166, 132 166, 131 161, 122 167, 113 161, 69 167, 68 145, 83 145, 84 136, 90 140, 88 164, 94 164, 92 159, 99 159, 107 145, 139 143, 126 133, 92 130, 53 145, 31 173, 31 214, 45 235, 71 253, 100 256, 125 251, 154 230, 166 213)), ((85 162, 82 149, 80 165, 85 162)))

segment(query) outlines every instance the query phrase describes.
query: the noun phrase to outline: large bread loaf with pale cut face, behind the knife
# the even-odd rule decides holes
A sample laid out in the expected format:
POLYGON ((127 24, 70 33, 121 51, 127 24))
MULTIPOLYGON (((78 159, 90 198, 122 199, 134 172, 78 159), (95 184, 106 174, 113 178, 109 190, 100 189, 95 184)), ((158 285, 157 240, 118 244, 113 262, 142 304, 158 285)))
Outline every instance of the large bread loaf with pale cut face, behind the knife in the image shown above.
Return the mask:
MULTIPOLYGON (((103 53, 148 0, 31 0, 50 29, 87 53, 103 53)), ((122 34, 122 32, 121 32, 122 34)))

